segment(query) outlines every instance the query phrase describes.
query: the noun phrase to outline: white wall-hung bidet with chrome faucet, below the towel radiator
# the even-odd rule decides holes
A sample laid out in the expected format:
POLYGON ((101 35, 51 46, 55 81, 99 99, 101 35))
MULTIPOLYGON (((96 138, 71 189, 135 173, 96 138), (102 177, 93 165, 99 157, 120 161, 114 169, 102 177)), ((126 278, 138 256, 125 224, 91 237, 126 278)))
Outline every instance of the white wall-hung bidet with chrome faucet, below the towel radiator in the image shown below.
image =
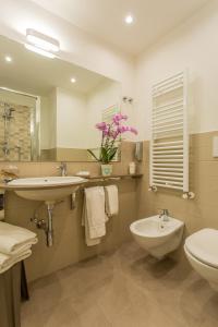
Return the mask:
POLYGON ((138 243, 154 257, 161 259, 174 251, 181 243, 184 222, 167 217, 153 216, 131 223, 130 230, 138 243))

